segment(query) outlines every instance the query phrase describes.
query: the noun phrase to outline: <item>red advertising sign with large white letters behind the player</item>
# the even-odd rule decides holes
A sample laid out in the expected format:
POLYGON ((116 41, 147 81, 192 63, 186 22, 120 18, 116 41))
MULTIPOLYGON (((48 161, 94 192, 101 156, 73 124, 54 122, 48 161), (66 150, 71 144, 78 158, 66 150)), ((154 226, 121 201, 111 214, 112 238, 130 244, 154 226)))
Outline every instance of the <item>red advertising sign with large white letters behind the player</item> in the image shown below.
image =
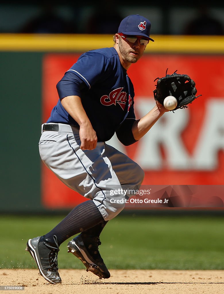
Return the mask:
MULTIPOLYGON (((43 61, 43 116, 49 118, 58 101, 56 83, 80 54, 47 54, 43 61)), ((135 113, 140 118, 154 106, 155 78, 188 74, 198 95, 185 109, 156 122, 137 143, 110 144, 126 153, 145 171, 143 185, 223 185, 224 179, 224 56, 146 54, 128 69, 135 88, 135 113)), ((42 201, 47 208, 72 208, 85 198, 61 183, 42 166, 42 201)))

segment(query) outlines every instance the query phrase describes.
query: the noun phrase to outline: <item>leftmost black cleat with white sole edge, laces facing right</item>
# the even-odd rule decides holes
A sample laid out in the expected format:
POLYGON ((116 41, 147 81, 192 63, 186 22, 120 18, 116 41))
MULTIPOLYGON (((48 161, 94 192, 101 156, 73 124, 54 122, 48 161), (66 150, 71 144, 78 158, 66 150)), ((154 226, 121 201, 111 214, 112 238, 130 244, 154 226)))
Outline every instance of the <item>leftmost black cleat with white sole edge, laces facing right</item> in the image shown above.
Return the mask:
POLYGON ((44 236, 29 239, 26 243, 26 251, 36 261, 40 275, 52 284, 61 283, 58 273, 58 251, 57 238, 53 236, 55 243, 49 242, 44 236))

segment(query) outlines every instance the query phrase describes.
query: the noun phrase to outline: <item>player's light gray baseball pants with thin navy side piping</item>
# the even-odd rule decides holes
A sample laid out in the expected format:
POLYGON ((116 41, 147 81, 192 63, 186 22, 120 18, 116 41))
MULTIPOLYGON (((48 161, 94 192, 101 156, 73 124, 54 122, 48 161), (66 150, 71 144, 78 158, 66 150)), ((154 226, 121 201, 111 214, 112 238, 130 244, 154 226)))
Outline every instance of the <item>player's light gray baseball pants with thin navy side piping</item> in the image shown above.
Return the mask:
POLYGON ((93 150, 81 150, 79 129, 62 123, 58 126, 59 131, 42 131, 42 161, 66 186, 93 200, 105 220, 111 220, 125 206, 124 194, 111 196, 111 190, 139 187, 144 178, 142 168, 105 142, 98 142, 93 150))

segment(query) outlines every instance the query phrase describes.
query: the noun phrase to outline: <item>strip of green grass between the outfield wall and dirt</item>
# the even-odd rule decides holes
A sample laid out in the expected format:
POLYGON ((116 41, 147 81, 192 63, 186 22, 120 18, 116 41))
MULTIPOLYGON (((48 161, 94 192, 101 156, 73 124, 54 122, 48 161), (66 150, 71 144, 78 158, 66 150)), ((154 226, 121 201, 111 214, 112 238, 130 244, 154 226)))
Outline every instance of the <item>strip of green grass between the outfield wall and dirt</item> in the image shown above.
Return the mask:
MULTIPOLYGON (((0 267, 36 268, 26 242, 47 233, 63 216, 1 216, 0 267)), ((110 269, 224 269, 224 218, 221 216, 117 216, 101 233, 101 256, 110 269)), ((70 238, 69 238, 70 239, 70 238)), ((82 269, 67 253, 59 268, 82 269)))

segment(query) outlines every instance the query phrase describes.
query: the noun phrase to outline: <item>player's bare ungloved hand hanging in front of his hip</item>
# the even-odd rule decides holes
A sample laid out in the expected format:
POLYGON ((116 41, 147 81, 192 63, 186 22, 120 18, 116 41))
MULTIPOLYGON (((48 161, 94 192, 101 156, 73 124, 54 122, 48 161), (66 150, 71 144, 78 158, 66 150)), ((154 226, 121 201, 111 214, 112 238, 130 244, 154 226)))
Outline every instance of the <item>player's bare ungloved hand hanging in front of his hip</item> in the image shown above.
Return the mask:
POLYGON ((91 125, 80 126, 79 136, 81 140, 80 149, 93 150, 96 148, 97 136, 91 125))

